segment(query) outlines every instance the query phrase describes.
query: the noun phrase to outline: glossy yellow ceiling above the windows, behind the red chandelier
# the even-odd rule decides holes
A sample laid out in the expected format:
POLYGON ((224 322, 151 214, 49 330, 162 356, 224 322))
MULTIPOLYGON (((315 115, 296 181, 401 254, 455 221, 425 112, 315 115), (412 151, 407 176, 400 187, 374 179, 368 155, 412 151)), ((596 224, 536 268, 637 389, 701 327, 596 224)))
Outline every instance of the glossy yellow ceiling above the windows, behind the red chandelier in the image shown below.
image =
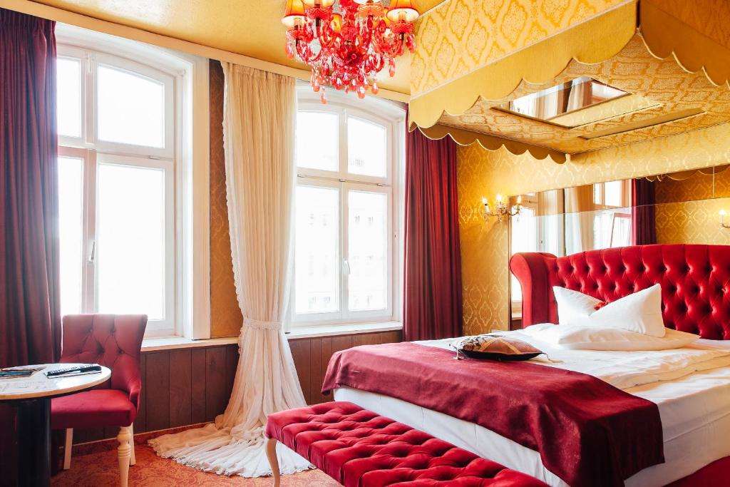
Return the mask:
MULTIPOLYGON (((284 52, 285 0, 35 0, 39 4, 296 68, 284 52)), ((421 12, 443 0, 418 0, 421 12)), ((380 86, 410 93, 410 55, 380 86)))

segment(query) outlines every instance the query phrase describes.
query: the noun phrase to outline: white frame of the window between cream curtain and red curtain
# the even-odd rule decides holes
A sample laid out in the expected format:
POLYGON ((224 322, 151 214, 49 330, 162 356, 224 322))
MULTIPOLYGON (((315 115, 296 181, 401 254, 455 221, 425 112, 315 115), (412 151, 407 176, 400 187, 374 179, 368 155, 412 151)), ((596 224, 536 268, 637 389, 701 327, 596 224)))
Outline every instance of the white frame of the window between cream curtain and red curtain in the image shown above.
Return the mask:
MULTIPOLYGON (((386 204, 390 208, 388 215, 388 291, 387 309, 373 311, 350 311, 347 309, 348 279, 343 271, 339 282, 339 312, 296 313, 296 285, 292 286, 290 319, 291 326, 333 326, 350 323, 369 323, 379 321, 400 321, 402 276, 400 262, 402 257, 402 225, 403 208, 402 175, 404 174, 404 134, 405 110, 398 104, 374 97, 354 99, 342 93, 328 93, 326 105, 320 102, 319 96, 312 93, 309 85, 297 88, 298 110, 300 112, 334 112, 339 116, 339 170, 326 171, 296 167, 297 185, 313 187, 337 188, 339 190, 339 260, 344 266, 347 260, 347 194, 349 191, 368 191, 384 193, 386 204), (385 177, 354 175, 347 172, 347 118, 360 118, 385 126, 388 131, 387 153, 388 164, 385 177)), ((295 154, 296 164, 296 154, 295 154)), ((296 245, 296 242, 295 244, 296 245)))

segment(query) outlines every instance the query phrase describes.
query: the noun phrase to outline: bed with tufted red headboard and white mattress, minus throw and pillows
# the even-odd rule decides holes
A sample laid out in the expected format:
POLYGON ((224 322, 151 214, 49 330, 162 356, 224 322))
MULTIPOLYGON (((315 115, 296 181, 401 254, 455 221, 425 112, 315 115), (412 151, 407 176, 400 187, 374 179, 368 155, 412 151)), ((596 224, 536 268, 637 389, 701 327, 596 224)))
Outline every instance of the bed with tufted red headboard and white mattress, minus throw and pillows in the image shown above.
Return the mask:
MULTIPOLYGON (((708 480, 714 480, 712 485, 721 485, 717 483, 720 476, 730 478, 730 247, 645 245, 560 258, 523 253, 512 258, 510 269, 522 285, 525 327, 558 322, 552 286, 611 302, 661 284, 665 325, 700 337, 689 348, 661 353, 581 350, 561 356, 564 351, 553 350, 542 342, 538 345, 549 356, 564 358, 558 363, 565 367, 572 361, 577 372, 600 377, 632 396, 657 404, 665 462, 632 475, 626 486, 689 487, 702 486, 708 480), (682 361, 689 356, 703 358, 682 361), (669 359, 676 362, 672 370, 662 369, 664 362, 656 369, 658 361, 669 359), (608 371, 605 364, 610 364, 608 371)), ((529 330, 512 333, 531 341, 529 330)), ((421 344, 448 348, 450 341, 421 344)), ((560 367, 545 358, 536 360, 560 367)), ((551 486, 567 485, 543 466, 537 451, 478 424, 372 391, 340 387, 334 396, 422 429, 551 486)))

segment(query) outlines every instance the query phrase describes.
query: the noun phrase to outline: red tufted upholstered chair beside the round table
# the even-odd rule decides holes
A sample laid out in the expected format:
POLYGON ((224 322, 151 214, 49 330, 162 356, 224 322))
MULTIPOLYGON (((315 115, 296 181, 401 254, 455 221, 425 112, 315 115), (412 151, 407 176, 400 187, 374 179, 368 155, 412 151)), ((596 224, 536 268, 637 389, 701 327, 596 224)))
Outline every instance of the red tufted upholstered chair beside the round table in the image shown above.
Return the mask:
POLYGON ((139 354, 146 327, 146 315, 64 316, 61 362, 112 370, 110 380, 91 391, 51 400, 51 428, 66 429, 64 469, 71 467, 74 428, 118 426, 120 481, 126 487, 129 465, 135 464, 132 422, 142 391, 139 354))

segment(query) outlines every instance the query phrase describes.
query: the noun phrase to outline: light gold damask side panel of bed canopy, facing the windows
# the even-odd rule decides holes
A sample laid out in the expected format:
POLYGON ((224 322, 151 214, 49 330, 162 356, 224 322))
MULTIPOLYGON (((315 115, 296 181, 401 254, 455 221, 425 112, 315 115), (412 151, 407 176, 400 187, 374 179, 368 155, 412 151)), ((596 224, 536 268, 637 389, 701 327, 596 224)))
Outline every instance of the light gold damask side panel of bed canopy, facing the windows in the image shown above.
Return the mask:
POLYGON ((588 20, 626 0, 452 0, 416 25, 411 95, 588 20))

